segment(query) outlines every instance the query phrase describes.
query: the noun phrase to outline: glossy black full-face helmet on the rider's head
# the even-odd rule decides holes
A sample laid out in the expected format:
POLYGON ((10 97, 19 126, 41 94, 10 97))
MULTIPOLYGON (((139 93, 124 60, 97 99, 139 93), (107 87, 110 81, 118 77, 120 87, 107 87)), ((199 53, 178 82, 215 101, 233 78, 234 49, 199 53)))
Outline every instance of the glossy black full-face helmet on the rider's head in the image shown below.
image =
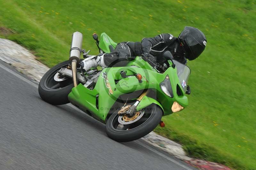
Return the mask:
POLYGON ((204 51, 207 42, 204 33, 195 27, 185 27, 178 39, 188 60, 196 59, 204 51))

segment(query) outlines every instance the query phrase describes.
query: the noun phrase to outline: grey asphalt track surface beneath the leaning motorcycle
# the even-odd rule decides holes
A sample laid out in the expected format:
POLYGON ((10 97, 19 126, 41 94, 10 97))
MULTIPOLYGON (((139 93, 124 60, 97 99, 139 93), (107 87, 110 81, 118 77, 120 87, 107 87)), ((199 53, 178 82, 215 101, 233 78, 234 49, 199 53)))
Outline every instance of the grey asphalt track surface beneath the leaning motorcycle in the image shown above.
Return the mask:
POLYGON ((0 170, 190 170, 139 139, 118 143, 71 104, 44 102, 37 83, 0 61, 0 170))

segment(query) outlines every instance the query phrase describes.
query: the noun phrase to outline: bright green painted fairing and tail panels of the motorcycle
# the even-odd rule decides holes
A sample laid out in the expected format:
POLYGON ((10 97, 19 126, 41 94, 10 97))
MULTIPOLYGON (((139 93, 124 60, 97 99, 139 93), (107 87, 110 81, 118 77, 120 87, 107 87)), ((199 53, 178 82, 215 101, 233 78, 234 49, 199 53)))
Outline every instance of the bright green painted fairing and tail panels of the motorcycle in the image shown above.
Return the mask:
MULTIPOLYGON (((108 47, 109 43, 113 43, 111 41, 112 40, 105 33, 102 33, 99 43, 100 48, 104 52, 107 51, 105 48, 108 47), (105 37, 108 38, 108 42, 105 41, 105 37)), ((153 89, 156 92, 156 96, 154 97, 155 99, 148 96, 143 97, 139 104, 140 106, 137 108, 138 110, 155 103, 162 108, 165 116, 172 113, 171 107, 175 101, 183 107, 188 106, 188 98, 185 96, 184 91, 181 88, 176 68, 174 69, 169 67, 164 73, 158 73, 141 57, 136 57, 125 67, 105 68, 102 70, 102 73, 100 74, 93 90, 87 89, 82 84, 79 84, 77 87, 73 88, 68 95, 68 99, 72 104, 78 106, 85 112, 90 111, 96 119, 102 122, 105 122, 109 111, 113 109, 112 106, 120 95, 143 89, 153 89), (126 75, 130 77, 122 78, 120 71, 125 71, 126 75), (106 72, 108 83, 110 84, 113 94, 109 93, 109 89, 107 88, 105 79, 103 78, 103 72, 106 72), (136 73, 140 73, 142 75, 142 83, 139 83, 137 78, 134 76, 136 73), (170 82, 174 95, 173 98, 164 94, 159 86, 159 84, 164 81, 167 74, 171 80, 170 82), (115 83, 115 80, 119 81, 115 83), (176 86, 180 87, 183 92, 182 95, 177 95, 176 86), (96 107, 97 96, 99 109, 96 107)))

